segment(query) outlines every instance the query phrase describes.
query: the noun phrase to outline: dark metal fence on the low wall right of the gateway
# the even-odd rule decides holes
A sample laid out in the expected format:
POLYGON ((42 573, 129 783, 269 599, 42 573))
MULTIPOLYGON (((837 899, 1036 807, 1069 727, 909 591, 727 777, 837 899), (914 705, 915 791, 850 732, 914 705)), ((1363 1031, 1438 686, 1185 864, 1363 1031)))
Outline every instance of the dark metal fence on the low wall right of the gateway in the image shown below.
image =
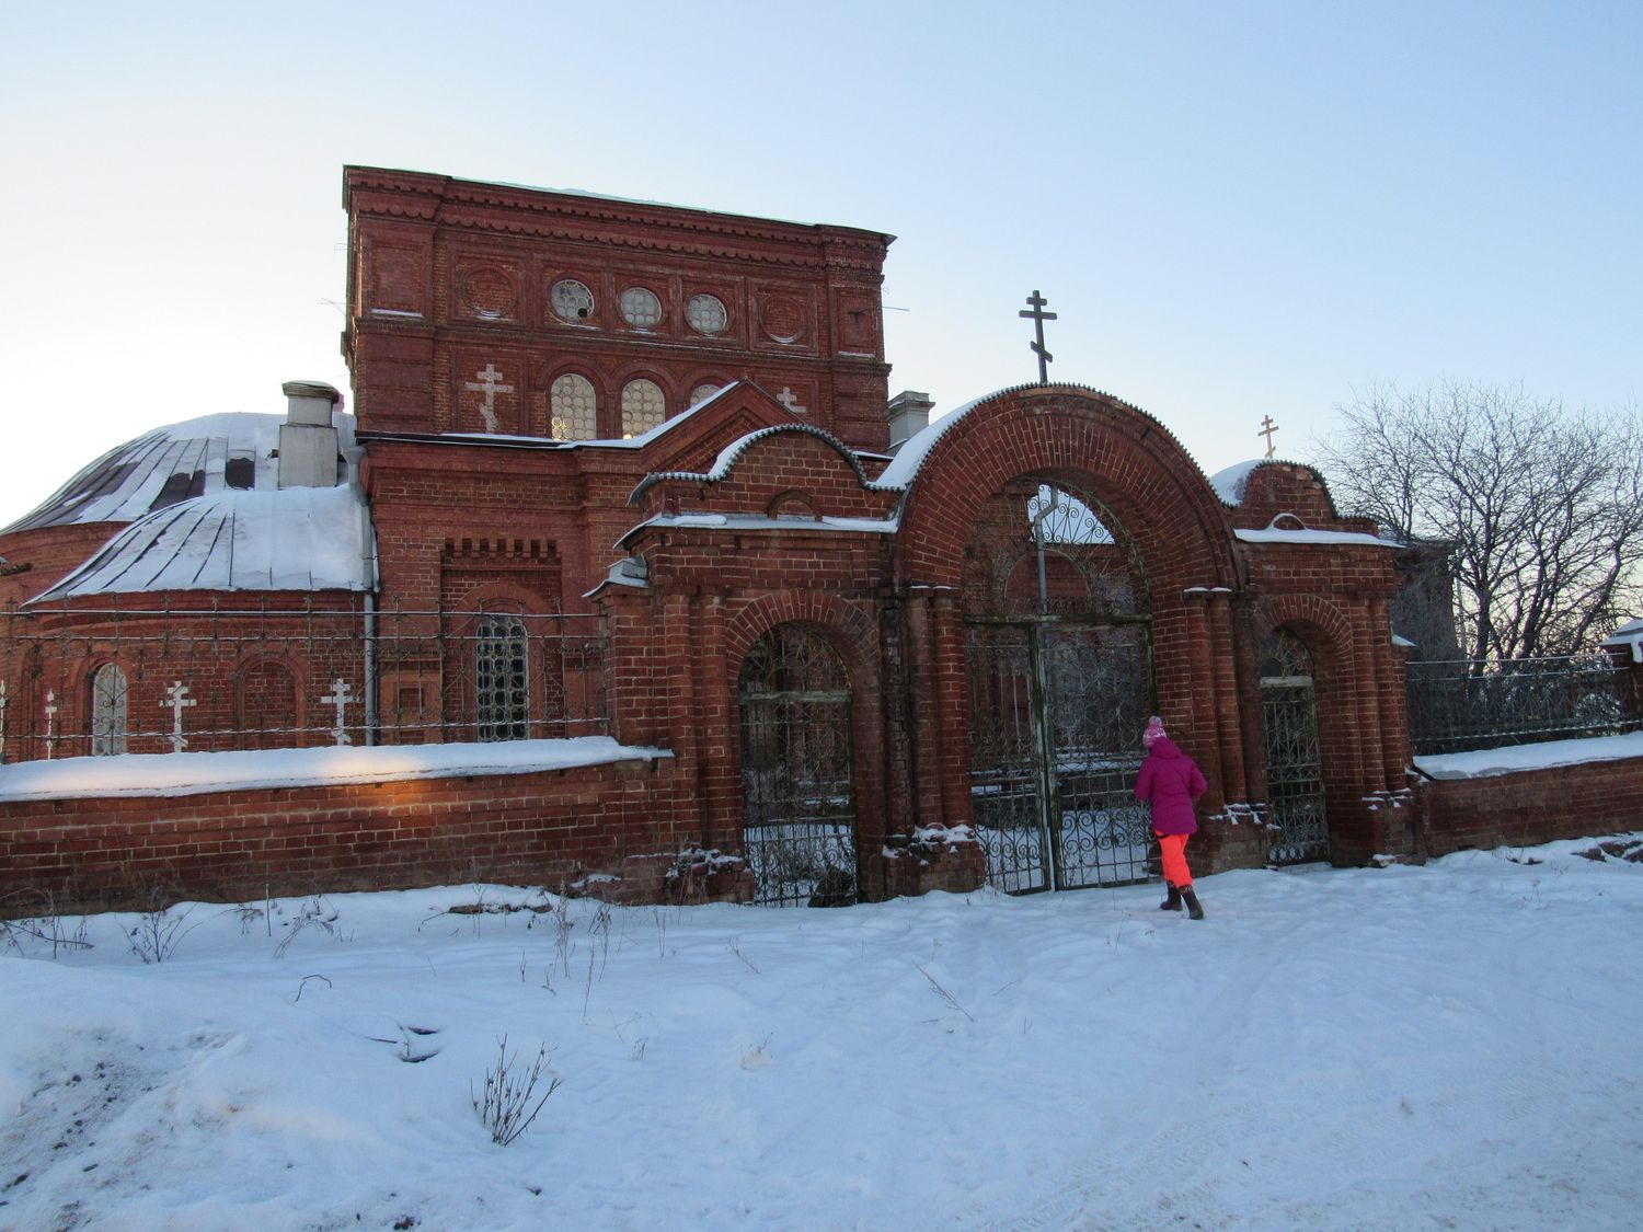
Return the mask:
POLYGON ((1408 703, 1416 754, 1643 729, 1636 677, 1604 654, 1413 662, 1408 703))

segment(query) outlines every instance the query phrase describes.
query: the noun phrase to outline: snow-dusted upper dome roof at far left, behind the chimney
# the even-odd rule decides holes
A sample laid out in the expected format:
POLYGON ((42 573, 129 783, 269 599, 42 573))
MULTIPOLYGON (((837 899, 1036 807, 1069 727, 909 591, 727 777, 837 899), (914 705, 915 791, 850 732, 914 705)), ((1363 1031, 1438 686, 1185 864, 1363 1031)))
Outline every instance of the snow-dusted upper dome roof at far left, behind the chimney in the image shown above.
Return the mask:
MULTIPOLYGON (((135 522, 194 496, 279 485, 279 425, 284 416, 222 412, 156 427, 84 467, 44 504, 0 531, 44 526, 135 522)), ((353 452, 353 416, 335 412, 342 452, 353 452)))

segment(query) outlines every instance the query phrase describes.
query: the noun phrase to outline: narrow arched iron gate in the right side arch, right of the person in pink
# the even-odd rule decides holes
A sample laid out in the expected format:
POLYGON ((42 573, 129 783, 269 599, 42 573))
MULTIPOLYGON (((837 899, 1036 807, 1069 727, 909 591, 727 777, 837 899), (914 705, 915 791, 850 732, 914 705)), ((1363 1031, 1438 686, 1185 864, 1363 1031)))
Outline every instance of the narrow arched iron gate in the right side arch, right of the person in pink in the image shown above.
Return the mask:
POLYGON ((1275 826, 1267 861, 1305 864, 1329 857, 1313 655, 1283 629, 1260 655, 1260 713, 1267 726, 1267 802, 1275 826))

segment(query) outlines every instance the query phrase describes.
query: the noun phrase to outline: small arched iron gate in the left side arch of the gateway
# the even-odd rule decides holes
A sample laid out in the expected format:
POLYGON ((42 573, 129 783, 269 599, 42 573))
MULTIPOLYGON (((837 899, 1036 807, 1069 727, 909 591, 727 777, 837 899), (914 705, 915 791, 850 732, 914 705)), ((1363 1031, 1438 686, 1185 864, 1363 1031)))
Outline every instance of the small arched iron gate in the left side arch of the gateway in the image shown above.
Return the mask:
POLYGON ((743 843, 754 902, 856 902, 851 696, 820 636, 780 624, 741 669, 743 843))

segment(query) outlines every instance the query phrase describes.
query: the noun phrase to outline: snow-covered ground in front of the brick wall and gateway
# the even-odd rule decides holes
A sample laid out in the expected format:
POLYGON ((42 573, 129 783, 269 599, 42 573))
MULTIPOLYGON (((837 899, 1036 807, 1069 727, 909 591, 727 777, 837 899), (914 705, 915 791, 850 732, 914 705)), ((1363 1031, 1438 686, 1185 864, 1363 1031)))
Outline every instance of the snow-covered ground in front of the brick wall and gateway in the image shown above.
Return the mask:
POLYGON ((1643 834, 1594 846, 1229 872, 1201 923, 457 885, 13 928, 0 1229, 1631 1229, 1643 834), (506 1147, 504 1035, 562 1079, 506 1147))

